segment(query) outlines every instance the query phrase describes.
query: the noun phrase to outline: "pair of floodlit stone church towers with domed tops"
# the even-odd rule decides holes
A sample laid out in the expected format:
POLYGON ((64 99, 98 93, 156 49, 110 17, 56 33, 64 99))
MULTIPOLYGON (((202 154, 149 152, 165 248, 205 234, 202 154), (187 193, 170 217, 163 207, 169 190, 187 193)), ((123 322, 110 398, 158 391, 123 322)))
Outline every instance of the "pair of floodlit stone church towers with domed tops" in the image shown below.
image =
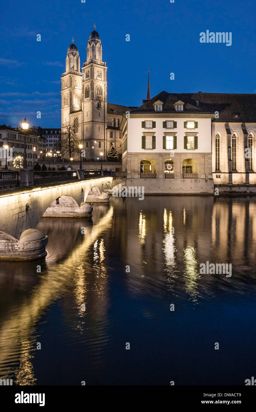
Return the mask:
MULTIPOLYGON (((113 109, 113 115, 115 112, 113 109)), ((122 119, 122 116, 115 117, 122 119)), ((120 122, 121 120, 118 124, 120 122)), ((96 160, 101 152, 103 152, 103 158, 106 158, 110 148, 107 136, 107 67, 102 61, 101 40, 95 30, 95 25, 89 35, 87 61, 83 63, 82 73, 78 48, 73 39, 68 47, 66 71, 61 77, 62 131, 65 131, 64 126, 67 123, 74 125, 78 139, 86 151, 87 159, 96 160)), ((112 132, 111 138, 115 144, 116 139, 113 137, 112 132)))

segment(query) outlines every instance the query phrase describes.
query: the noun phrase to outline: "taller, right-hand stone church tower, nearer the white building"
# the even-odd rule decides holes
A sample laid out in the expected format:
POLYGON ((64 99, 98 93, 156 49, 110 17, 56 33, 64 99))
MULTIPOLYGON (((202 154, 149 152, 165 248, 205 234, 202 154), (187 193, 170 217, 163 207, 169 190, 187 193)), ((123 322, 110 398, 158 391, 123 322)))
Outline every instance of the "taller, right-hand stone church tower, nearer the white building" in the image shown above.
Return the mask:
POLYGON ((82 67, 82 144, 86 158, 106 159, 107 67, 102 61, 99 33, 89 35, 87 61, 82 67))

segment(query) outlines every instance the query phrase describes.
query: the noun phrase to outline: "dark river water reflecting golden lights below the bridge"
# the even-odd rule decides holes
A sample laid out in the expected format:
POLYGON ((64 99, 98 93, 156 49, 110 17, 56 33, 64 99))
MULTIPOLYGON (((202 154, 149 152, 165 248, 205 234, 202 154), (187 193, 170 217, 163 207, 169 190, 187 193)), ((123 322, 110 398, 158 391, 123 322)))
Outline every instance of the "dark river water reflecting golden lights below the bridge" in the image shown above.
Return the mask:
POLYGON ((244 385, 256 376, 255 197, 111 198, 90 219, 42 218, 38 229, 46 259, 0 262, 0 378, 244 385), (207 261, 231 263, 232 276, 200 274, 207 261))

